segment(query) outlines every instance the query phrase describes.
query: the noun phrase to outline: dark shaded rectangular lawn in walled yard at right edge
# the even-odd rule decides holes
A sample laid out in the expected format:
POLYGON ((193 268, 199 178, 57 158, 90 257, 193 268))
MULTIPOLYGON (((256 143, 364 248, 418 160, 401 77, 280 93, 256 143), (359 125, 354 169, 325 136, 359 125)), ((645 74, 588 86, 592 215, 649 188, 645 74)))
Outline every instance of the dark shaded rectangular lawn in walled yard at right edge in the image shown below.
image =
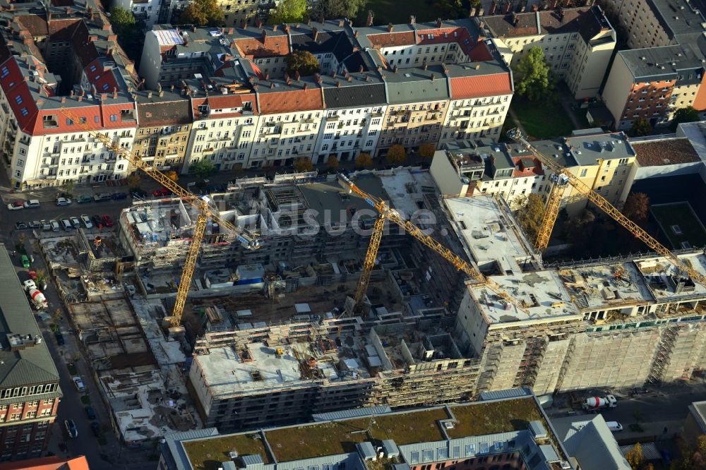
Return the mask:
POLYGON ((674 249, 684 248, 681 245, 683 241, 690 246, 706 246, 706 231, 689 203, 653 205, 650 212, 674 249), (678 225, 681 234, 674 231, 674 225, 678 225))

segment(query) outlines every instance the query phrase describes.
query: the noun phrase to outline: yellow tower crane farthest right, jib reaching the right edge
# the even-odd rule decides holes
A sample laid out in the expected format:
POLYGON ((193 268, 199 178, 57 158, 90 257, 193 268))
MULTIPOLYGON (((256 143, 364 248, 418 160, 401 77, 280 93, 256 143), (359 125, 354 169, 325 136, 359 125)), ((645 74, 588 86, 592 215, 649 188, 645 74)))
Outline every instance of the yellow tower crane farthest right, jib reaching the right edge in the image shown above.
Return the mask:
POLYGON ((549 171, 554 173, 551 177, 551 179, 554 180, 554 187, 551 189, 549 200, 547 200, 546 209, 544 210, 544 217, 542 218, 542 226, 539 227, 537 240, 534 243, 536 248, 543 249, 549 245, 549 236, 551 236, 551 230, 554 228, 554 222, 556 222, 556 217, 559 213, 561 197, 566 189, 566 185, 570 185, 575 188, 576 191, 582 195, 585 195, 588 200, 597 205, 599 209, 618 222, 618 224, 621 224, 623 227, 628 229, 630 233, 635 236, 635 238, 640 239, 649 248, 664 256, 664 258, 669 260, 669 262, 679 270, 688 273, 691 279, 695 282, 706 286, 706 276, 701 275, 701 273, 693 267, 677 258, 677 256, 669 250, 669 248, 666 248, 666 246, 659 243, 657 239, 648 234, 647 231, 642 229, 642 227, 628 219, 628 217, 623 215, 623 213, 620 212, 614 205, 609 203, 606 198, 596 191, 593 191, 592 188, 589 188, 573 173, 568 171, 568 169, 554 162, 553 159, 546 157, 546 155, 542 152, 539 152, 539 150, 537 150, 537 148, 534 147, 529 140, 527 140, 525 135, 522 135, 522 131, 520 131, 519 128, 510 129, 510 131, 508 131, 508 137, 515 140, 515 142, 522 145, 522 147, 525 147, 527 151, 532 152, 532 154, 539 159, 539 162, 542 162, 542 166, 545 169, 549 169, 549 171))

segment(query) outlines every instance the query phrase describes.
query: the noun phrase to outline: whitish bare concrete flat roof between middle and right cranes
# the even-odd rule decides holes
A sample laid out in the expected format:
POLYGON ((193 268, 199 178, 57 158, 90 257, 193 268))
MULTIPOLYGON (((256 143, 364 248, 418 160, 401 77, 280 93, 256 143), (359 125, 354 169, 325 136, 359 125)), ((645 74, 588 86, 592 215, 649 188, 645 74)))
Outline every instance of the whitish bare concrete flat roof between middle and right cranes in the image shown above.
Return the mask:
POLYGON ((450 198, 444 204, 457 234, 479 266, 497 263, 503 274, 519 273, 519 263, 532 256, 512 215, 492 195, 450 198))

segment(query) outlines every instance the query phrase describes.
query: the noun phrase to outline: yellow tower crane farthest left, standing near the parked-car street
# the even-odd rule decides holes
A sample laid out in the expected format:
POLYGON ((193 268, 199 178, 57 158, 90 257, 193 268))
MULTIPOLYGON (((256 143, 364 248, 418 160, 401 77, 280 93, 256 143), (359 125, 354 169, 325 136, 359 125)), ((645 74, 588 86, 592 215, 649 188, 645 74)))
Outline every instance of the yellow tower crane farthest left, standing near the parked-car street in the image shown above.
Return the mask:
POLYGON ((108 137, 107 133, 100 133, 93 128, 86 125, 88 119, 83 116, 76 116, 73 112, 69 111, 66 107, 61 107, 61 113, 64 114, 68 119, 71 119, 80 128, 88 132, 93 138, 100 140, 106 147, 112 149, 116 155, 120 155, 128 162, 133 164, 133 166, 144 171, 146 175, 150 176, 153 180, 162 184, 164 188, 172 191, 175 195, 179 196, 182 200, 189 203, 191 206, 198 210, 198 217, 196 219, 196 225, 193 227, 191 234, 191 243, 189 244, 189 251, 186 254, 186 260, 184 262, 184 270, 181 272, 181 277, 179 279, 179 287, 177 288, 177 298, 174 302, 174 310, 172 311, 172 318, 170 324, 172 329, 178 328, 181 325, 181 315, 184 313, 184 305, 186 304, 186 296, 189 294, 189 286, 191 285, 191 279, 193 277, 193 271, 196 268, 196 262, 198 260, 198 249, 201 248, 201 241, 203 240, 203 232, 206 228, 206 220, 210 219, 217 223, 219 227, 225 229, 236 237, 236 239, 243 244, 246 248, 256 249, 260 247, 260 241, 257 237, 252 234, 247 229, 241 229, 235 227, 233 224, 224 220, 217 213, 215 205, 209 204, 208 200, 205 198, 199 198, 197 195, 186 191, 186 189, 179 186, 177 183, 169 179, 169 177, 152 167, 150 164, 143 162, 143 160, 135 155, 131 150, 126 147, 119 147, 115 145, 111 138, 108 137))

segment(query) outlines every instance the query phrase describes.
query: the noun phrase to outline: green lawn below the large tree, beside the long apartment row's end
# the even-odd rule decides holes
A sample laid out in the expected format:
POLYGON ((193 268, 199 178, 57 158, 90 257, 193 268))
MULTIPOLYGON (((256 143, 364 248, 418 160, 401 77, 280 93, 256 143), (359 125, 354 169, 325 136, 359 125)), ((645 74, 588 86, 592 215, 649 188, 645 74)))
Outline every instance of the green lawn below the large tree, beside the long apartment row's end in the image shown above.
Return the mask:
POLYGON ((532 139, 563 137, 573 131, 571 120, 558 101, 532 103, 515 96, 510 109, 532 139))

